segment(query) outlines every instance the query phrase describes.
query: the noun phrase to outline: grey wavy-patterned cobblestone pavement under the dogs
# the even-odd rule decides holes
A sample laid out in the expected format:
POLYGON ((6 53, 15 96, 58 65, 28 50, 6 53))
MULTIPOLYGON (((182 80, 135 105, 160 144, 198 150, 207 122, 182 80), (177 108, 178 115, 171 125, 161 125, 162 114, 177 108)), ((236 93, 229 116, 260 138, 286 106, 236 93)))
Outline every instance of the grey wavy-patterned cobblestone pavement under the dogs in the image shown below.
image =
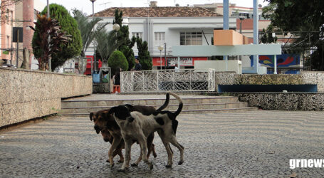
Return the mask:
MULTIPOLYGON (((0 177, 323 177, 324 168, 289 168, 289 159, 324 159, 324 112, 254 111, 179 115, 177 139, 184 164, 167 169, 155 134, 157 158, 125 172, 110 168, 109 143, 88 117, 56 117, 0 133, 0 177)), ((132 146, 132 161, 139 154, 132 146)), ((117 157, 115 158, 117 161, 117 157)))

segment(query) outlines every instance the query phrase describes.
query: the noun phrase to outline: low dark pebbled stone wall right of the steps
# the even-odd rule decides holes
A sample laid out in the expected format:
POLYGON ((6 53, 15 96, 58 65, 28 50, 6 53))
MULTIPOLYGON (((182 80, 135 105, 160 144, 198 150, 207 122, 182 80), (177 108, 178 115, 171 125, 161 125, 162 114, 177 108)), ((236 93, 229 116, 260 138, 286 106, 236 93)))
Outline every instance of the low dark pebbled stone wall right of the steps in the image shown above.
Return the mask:
POLYGON ((231 93, 263 110, 324 110, 324 93, 231 93))

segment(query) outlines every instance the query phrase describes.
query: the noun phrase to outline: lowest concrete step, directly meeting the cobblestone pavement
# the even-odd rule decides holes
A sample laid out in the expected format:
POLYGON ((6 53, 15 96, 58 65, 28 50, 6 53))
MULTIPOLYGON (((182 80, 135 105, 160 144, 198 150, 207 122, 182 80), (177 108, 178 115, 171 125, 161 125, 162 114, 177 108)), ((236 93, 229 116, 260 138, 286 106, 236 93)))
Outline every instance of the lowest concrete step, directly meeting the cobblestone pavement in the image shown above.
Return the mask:
MULTIPOLYGON (((216 112, 246 112, 246 111, 253 111, 253 110, 258 110, 258 108, 256 108, 256 107, 246 107, 246 108, 182 110, 181 113, 183 113, 183 114, 198 114, 198 113, 216 113, 216 112)), ((172 112, 174 112, 174 110, 172 112)), ((72 117, 88 117, 89 112, 62 113, 61 115, 72 116, 72 117)))

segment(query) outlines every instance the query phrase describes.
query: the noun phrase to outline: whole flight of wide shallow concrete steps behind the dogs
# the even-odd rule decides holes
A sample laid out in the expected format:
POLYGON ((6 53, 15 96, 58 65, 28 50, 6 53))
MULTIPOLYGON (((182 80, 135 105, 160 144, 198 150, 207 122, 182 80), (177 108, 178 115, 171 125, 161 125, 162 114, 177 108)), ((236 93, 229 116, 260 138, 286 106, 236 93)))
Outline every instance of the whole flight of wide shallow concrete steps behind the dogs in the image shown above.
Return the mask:
MULTIPOLYGON (((239 99, 233 96, 181 95, 180 97, 184 103, 183 113, 244 112, 258 109, 249 108, 248 103, 239 102, 239 99)), ((90 95, 63 100, 60 114, 88 117, 90 112, 123 104, 160 108, 164 101, 165 95, 90 95)), ((169 105, 165 110, 175 111, 178 106, 179 102, 170 96, 169 105)))

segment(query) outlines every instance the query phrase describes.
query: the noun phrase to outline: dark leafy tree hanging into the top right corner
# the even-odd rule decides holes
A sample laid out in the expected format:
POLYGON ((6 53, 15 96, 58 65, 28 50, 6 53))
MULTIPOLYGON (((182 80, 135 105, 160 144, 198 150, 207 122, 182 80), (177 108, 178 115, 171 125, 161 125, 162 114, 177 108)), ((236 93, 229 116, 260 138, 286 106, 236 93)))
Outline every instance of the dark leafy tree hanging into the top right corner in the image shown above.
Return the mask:
MULTIPOLYGON (((263 9, 263 16, 271 19, 271 24, 283 31, 290 31, 298 36, 293 44, 293 50, 321 50, 323 44, 324 1, 322 0, 266 0, 268 6, 263 9)), ((288 48, 288 50, 291 48, 288 48)), ((312 60, 320 66, 316 69, 323 70, 322 52, 312 60)))

